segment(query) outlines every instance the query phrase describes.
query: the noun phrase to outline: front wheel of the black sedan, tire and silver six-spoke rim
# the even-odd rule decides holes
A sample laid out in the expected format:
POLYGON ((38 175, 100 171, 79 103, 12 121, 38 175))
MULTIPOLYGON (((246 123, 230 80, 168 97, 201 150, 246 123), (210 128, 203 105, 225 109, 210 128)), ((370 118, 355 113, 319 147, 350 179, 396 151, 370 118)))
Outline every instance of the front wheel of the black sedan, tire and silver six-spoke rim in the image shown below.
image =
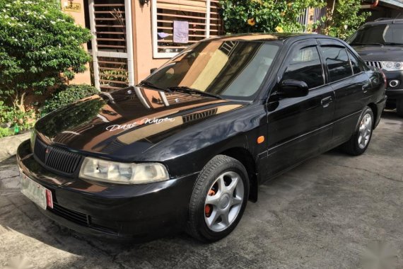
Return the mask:
POLYGON ((249 178, 243 164, 229 156, 215 156, 194 183, 187 234, 204 242, 223 239, 240 221, 248 195, 249 178))

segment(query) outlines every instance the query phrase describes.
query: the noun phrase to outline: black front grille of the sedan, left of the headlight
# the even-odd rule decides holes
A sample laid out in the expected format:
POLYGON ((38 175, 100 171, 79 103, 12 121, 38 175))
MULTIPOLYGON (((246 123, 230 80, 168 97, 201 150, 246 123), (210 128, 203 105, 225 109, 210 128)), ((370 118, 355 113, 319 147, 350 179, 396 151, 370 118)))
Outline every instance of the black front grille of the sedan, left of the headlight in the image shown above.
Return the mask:
POLYGON ((81 161, 80 155, 49 146, 38 138, 35 139, 34 154, 48 168, 68 174, 74 173, 81 161))

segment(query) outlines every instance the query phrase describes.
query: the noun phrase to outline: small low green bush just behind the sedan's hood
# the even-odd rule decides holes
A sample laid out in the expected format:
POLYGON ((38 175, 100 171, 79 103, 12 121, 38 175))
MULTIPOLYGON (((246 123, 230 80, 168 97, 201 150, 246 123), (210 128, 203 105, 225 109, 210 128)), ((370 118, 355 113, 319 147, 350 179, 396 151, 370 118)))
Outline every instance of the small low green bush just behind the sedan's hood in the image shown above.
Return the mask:
POLYGON ((95 87, 86 84, 63 85, 53 93, 52 98, 45 101, 42 113, 50 113, 64 105, 98 93, 99 91, 95 87))

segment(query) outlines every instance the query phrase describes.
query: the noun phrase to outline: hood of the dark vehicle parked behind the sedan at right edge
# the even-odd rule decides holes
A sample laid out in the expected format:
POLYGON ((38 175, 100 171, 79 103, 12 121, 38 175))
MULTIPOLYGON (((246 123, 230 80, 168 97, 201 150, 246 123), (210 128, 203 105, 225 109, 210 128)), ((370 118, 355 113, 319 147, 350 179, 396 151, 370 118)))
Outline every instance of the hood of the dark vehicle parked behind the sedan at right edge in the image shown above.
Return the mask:
POLYGON ((403 46, 353 46, 364 61, 403 61, 403 46))

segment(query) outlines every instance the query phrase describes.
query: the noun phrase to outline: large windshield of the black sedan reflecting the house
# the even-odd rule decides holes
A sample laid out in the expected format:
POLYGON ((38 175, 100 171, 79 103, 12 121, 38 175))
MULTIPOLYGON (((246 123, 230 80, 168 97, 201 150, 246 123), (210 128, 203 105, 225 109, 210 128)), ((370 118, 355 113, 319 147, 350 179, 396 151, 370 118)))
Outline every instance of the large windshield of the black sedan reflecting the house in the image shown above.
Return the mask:
POLYGON ((200 42, 170 59, 146 81, 159 88, 182 86, 252 100, 278 50, 273 42, 200 42))

